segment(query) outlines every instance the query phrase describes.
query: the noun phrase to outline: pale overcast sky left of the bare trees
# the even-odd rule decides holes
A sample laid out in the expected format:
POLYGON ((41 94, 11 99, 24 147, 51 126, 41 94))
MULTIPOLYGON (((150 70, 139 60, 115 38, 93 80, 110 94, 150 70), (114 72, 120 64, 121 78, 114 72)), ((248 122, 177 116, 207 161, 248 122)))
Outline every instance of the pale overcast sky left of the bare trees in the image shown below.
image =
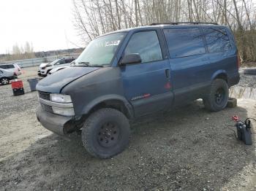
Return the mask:
POLYGON ((75 47, 72 18, 72 0, 0 0, 0 53, 26 41, 35 51, 75 47))

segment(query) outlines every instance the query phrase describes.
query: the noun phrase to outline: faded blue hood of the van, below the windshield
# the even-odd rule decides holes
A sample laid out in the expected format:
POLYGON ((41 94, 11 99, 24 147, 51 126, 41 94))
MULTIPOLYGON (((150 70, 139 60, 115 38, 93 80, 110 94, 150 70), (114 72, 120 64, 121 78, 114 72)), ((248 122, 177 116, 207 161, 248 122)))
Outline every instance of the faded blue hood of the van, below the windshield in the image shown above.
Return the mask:
POLYGON ((83 77, 86 74, 100 69, 98 67, 69 67, 41 79, 37 84, 37 90, 49 93, 61 93, 61 89, 70 82, 83 77))

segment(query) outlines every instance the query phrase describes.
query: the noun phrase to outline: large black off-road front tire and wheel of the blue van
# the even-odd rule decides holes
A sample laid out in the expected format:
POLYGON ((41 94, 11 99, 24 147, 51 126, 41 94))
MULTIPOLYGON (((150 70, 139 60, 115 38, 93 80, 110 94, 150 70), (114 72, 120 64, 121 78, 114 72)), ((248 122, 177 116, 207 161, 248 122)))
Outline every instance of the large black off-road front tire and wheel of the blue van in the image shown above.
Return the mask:
POLYGON ((129 144, 129 136, 129 121, 117 109, 104 108, 97 110, 86 119, 82 128, 83 146, 94 157, 108 158, 117 155, 129 144), (116 133, 118 135, 114 134, 115 131, 110 132, 113 129, 117 129, 117 127, 116 133), (105 130, 109 133, 106 133, 105 130), (114 136, 118 137, 113 139, 114 136), (109 145, 107 140, 109 140, 109 145))

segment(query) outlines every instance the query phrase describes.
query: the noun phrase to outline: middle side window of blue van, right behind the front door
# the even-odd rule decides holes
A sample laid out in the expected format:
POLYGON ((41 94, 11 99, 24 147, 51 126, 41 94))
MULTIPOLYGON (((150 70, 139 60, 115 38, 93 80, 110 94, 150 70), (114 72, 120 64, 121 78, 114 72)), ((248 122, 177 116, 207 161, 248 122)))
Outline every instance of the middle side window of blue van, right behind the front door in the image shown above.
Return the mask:
POLYGON ((198 28, 170 28, 165 29, 164 33, 170 58, 206 53, 203 38, 198 28))

